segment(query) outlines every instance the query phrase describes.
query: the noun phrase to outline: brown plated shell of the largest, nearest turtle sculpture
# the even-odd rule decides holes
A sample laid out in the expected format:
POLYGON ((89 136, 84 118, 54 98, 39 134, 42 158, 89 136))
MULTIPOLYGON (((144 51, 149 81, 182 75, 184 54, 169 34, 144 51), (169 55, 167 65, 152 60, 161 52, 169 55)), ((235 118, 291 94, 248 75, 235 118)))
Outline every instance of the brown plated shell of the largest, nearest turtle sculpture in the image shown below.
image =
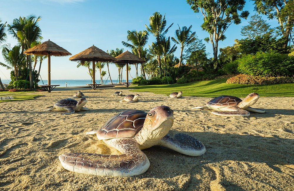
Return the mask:
POLYGON ((126 110, 114 115, 97 131, 99 140, 135 136, 143 127, 147 113, 141 110, 126 110))

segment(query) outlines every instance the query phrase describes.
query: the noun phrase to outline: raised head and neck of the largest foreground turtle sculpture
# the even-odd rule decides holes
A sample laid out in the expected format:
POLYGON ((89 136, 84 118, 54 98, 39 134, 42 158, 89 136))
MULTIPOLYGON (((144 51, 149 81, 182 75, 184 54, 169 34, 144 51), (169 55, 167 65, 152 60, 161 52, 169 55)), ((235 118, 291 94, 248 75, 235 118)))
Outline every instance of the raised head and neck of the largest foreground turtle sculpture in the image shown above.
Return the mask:
POLYGON ((143 128, 135 136, 135 140, 141 145, 141 149, 156 145, 168 134, 172 125, 173 110, 165 105, 157 106, 147 113, 143 128))

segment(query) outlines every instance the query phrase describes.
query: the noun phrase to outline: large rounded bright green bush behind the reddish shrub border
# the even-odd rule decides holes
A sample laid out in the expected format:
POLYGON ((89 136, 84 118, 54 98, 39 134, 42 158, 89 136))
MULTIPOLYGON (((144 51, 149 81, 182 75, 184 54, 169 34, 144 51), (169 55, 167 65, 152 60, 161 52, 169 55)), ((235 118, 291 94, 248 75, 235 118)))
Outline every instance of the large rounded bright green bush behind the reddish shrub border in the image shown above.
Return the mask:
POLYGON ((250 76, 292 76, 294 57, 275 52, 247 55, 239 60, 238 71, 250 76))

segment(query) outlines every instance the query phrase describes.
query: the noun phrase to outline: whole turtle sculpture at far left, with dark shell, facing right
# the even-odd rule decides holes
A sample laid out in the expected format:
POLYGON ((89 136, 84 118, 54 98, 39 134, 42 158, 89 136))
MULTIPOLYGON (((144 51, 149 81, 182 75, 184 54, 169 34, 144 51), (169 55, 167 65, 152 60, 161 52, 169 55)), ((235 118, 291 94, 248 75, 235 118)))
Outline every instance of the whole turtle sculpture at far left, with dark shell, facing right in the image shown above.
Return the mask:
POLYGON ((67 98, 67 99, 62 99, 59 100, 58 102, 56 102, 54 104, 54 106, 50 109, 48 109, 47 111, 52 111, 54 109, 57 109, 59 111, 67 111, 65 113, 62 114, 72 114, 74 113, 76 110, 89 110, 88 108, 83 108, 83 106, 87 103, 86 98, 81 98, 81 100, 78 102, 76 100, 67 98))

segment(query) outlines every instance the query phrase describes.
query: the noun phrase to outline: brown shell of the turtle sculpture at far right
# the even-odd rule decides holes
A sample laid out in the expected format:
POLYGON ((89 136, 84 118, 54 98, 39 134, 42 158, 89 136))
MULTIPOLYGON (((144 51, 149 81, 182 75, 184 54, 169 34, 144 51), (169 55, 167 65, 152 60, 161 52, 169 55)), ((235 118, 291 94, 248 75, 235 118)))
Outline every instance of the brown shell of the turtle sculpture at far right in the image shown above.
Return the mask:
POLYGON ((236 106, 242 100, 234 96, 219 96, 208 101, 206 104, 215 108, 223 108, 228 106, 236 106))

